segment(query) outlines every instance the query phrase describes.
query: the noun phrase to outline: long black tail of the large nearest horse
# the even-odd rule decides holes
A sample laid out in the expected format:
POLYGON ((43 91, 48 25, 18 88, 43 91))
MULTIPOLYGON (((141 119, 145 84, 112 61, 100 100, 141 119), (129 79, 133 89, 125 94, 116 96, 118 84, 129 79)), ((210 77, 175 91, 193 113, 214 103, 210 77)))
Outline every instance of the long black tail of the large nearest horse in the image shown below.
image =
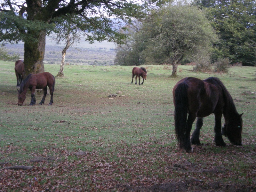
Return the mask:
POLYGON ((187 116, 188 116, 188 84, 186 82, 180 83, 174 93, 174 124, 175 124, 175 134, 176 138, 180 144, 180 148, 183 146, 183 140, 185 135, 185 130, 187 126, 187 116))

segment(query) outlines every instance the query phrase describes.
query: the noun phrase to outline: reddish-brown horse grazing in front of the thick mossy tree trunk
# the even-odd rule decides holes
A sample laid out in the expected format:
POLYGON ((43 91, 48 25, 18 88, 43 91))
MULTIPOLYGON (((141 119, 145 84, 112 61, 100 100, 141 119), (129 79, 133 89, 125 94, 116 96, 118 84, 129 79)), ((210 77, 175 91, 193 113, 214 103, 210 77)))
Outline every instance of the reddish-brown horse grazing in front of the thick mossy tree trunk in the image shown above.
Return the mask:
POLYGON ((51 73, 44 72, 44 73, 38 73, 38 74, 32 74, 30 73, 27 78, 22 81, 20 84, 20 90, 18 90, 18 105, 22 105, 24 100, 26 99, 26 92, 28 89, 31 91, 31 102, 29 105, 35 105, 36 104, 36 97, 35 97, 35 90, 36 89, 44 89, 44 96, 39 103, 42 105, 44 103, 46 94, 47 94, 47 86, 49 87, 50 94, 51 94, 51 100, 49 105, 52 105, 53 100, 53 92, 54 92, 54 86, 55 86, 55 78, 51 73))

